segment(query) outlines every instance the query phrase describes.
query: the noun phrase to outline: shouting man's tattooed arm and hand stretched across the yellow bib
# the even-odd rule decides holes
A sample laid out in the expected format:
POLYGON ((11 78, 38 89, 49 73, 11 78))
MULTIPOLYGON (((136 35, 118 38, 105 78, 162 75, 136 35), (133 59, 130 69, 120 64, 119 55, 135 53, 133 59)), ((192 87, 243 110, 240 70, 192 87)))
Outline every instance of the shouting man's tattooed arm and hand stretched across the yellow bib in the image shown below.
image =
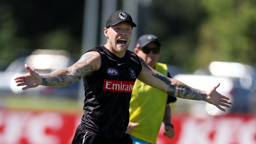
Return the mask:
POLYGON ((222 111, 225 110, 221 106, 230 107, 230 105, 227 104, 232 104, 230 101, 228 101, 229 98, 219 94, 216 91, 217 87, 219 87, 219 83, 208 91, 194 89, 182 83, 181 81, 178 81, 177 79, 163 76, 163 74, 160 72, 150 68, 141 57, 140 61, 142 70, 138 76, 138 79, 147 85, 155 87, 156 89, 160 89, 163 92, 178 98, 206 101, 215 105, 222 111))

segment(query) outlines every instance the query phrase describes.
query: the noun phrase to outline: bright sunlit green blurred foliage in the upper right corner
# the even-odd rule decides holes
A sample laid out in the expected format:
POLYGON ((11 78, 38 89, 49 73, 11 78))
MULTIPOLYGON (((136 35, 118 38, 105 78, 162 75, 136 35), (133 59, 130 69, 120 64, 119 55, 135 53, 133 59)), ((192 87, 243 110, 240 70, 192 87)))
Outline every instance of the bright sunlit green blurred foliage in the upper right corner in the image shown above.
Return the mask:
POLYGON ((202 0, 207 19, 200 25, 195 66, 211 61, 256 63, 256 1, 202 0))

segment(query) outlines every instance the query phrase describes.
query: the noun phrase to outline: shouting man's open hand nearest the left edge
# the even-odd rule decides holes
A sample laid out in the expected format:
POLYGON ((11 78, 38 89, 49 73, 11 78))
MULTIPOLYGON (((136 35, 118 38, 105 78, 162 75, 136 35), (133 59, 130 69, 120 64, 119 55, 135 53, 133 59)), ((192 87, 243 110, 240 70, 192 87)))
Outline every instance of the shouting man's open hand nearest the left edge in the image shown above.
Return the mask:
POLYGON ((22 90, 37 87, 42 84, 42 80, 40 75, 32 68, 30 68, 27 64, 25 64, 26 70, 28 70, 28 74, 23 76, 18 76, 14 80, 17 83, 17 86, 26 85, 22 90))

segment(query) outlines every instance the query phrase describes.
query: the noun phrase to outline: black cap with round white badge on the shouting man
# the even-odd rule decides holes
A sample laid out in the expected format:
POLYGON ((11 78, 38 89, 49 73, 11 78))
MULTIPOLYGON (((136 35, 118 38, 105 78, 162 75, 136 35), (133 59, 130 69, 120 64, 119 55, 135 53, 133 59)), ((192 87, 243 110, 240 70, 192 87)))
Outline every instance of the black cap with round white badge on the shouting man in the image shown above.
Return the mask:
POLYGON ((115 11, 111 13, 106 21, 105 28, 118 24, 119 22, 127 21, 132 24, 132 27, 136 27, 136 24, 132 21, 132 17, 125 11, 115 11))

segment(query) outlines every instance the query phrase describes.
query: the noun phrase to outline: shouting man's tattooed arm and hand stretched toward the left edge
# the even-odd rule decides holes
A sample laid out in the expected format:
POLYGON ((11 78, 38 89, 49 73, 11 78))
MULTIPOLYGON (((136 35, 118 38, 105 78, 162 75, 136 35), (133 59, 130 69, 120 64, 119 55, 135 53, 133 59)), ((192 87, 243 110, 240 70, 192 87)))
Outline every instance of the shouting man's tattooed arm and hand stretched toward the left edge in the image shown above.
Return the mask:
POLYGON ((98 70, 101 57, 98 52, 87 52, 72 66, 56 70, 50 74, 39 75, 35 70, 25 65, 28 74, 15 78, 17 86, 26 85, 22 89, 45 85, 50 87, 63 87, 82 79, 91 72, 98 70))

